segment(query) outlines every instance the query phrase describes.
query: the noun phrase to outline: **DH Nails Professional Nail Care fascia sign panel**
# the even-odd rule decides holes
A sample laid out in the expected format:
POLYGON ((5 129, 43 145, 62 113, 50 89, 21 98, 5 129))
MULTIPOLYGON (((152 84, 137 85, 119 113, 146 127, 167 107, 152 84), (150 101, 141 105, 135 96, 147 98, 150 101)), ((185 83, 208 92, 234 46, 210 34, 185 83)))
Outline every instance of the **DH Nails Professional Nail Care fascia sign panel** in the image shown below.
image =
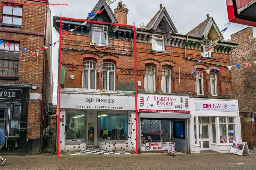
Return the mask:
POLYGON ((236 112, 236 104, 195 102, 195 111, 236 112))

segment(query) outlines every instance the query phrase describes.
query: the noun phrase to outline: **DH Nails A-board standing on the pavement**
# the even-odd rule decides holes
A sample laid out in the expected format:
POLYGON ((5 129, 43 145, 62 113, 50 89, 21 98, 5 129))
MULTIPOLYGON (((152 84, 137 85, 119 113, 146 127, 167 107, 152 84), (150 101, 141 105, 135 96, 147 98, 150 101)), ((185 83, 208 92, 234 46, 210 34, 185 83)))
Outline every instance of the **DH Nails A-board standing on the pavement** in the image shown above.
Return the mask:
POLYGON ((233 153, 240 156, 242 156, 242 154, 250 156, 247 142, 233 141, 229 153, 233 153))

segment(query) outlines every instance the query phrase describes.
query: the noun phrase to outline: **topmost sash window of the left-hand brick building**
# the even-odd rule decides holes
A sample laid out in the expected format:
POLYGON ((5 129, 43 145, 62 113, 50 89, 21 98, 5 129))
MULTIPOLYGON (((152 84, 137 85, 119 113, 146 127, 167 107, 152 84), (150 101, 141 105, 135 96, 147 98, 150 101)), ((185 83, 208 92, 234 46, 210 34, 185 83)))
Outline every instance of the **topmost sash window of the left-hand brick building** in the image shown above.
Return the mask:
POLYGON ((22 7, 3 5, 2 23, 21 25, 22 7))

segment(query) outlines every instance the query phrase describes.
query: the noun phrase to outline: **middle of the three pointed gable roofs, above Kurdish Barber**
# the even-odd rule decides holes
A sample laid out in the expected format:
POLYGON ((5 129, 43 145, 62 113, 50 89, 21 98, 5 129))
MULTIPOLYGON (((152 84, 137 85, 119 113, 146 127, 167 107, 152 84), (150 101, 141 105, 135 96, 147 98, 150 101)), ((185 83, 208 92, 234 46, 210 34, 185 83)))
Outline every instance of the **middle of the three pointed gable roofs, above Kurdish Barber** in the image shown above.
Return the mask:
MULTIPOLYGON (((147 24, 145 28, 148 29, 156 29, 158 28, 159 24, 161 23, 162 20, 165 20, 164 22, 167 22, 169 25, 169 28, 171 29, 172 32, 178 33, 177 29, 175 28, 169 14, 167 13, 165 7, 162 7, 162 4, 160 4, 160 10, 156 13, 156 15, 150 20, 150 22, 147 24)), ((165 32, 169 32, 169 30, 165 30, 165 32)))

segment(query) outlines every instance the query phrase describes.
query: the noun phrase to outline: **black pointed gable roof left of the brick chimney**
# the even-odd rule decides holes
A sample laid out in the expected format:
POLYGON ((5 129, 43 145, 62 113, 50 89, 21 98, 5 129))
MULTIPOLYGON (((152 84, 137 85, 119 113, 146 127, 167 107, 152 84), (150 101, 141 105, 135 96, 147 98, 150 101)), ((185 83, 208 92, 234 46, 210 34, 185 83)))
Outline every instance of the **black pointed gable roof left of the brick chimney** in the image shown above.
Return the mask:
MULTIPOLYGON (((99 11, 103 8, 105 8, 107 6, 105 0, 99 0, 98 3, 95 5, 95 7, 92 9, 92 11, 90 12, 91 14, 96 14, 96 11, 99 11)), ((113 13, 113 11, 111 10, 110 6, 108 6, 107 8, 105 8, 103 11, 106 11, 108 17, 111 20, 111 23, 117 23, 117 19, 113 13)), ((102 13, 101 13, 102 14, 102 13)), ((101 15, 101 14, 97 14, 97 15, 101 15)), ((87 19, 89 19, 90 16, 87 17, 87 19)))

